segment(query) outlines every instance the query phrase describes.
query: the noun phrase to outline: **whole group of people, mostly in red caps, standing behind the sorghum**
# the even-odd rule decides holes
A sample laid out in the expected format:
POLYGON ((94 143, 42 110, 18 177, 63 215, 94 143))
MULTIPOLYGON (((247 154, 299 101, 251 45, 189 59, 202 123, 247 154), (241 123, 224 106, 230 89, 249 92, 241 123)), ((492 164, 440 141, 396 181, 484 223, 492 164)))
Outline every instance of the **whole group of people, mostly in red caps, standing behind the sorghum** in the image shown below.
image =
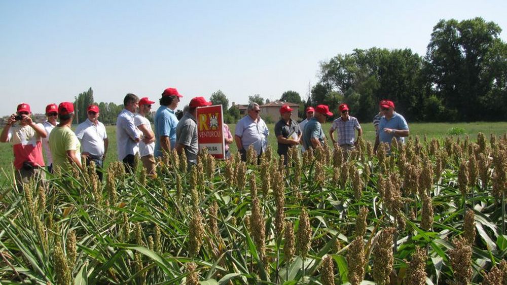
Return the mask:
MULTIPOLYGON (((156 158, 172 150, 178 154, 185 152, 189 169, 197 164, 199 146, 196 110, 211 105, 211 102, 204 97, 192 98, 189 105, 185 106, 183 117, 178 120, 175 110, 182 97, 176 88, 167 88, 162 92, 160 107, 154 116, 155 128, 152 129, 146 116, 155 101, 148 97, 139 99, 131 93, 125 96, 124 109, 116 121, 116 141, 118 160, 123 162, 126 171, 135 169, 136 157, 139 157, 147 174, 156 177, 156 158)), ((392 101, 380 101, 379 108, 380 112, 373 121, 376 130, 375 151, 380 142, 390 144, 396 138, 403 143, 404 137, 409 135, 407 122, 402 115, 394 112, 392 101)), ((299 124, 292 119, 294 110, 288 105, 281 106, 279 111, 281 118, 275 124, 274 131, 277 154, 284 156, 285 164, 290 148, 301 146, 304 152, 325 145, 322 123, 333 116, 329 106, 321 104, 315 108, 308 107, 305 110, 306 118, 299 124)), ((356 148, 357 138, 363 134, 363 130, 357 119, 350 116, 347 104, 339 105, 338 112, 340 117, 333 121, 329 137, 334 147, 342 148, 348 153, 356 148)), ((231 157, 230 145, 233 141, 243 161, 246 161, 246 150, 250 147, 256 151, 258 158, 266 151, 269 129, 260 113, 259 104, 250 102, 247 114, 236 124, 234 136, 229 126, 223 124, 226 159, 231 157)), ((55 167, 63 171, 68 171, 71 167, 82 169, 84 161, 87 164, 94 162, 97 175, 102 180, 108 139, 106 128, 99 121, 99 107, 89 105, 87 120, 79 124, 75 131, 71 130, 75 117, 73 103, 48 104, 45 114, 46 120, 37 124, 30 117, 30 105, 21 103, 0 134, 0 142, 10 142, 13 146, 18 189, 22 189, 23 183, 27 183, 31 177, 44 179, 46 171, 52 172, 55 167)))

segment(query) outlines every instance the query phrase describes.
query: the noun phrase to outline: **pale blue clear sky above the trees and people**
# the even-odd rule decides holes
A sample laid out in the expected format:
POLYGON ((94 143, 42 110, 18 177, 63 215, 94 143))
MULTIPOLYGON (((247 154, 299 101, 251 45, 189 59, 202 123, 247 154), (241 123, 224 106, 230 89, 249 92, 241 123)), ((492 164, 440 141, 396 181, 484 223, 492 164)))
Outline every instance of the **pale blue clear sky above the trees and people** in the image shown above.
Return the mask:
POLYGON ((319 62, 354 49, 426 53, 439 20, 483 17, 507 41, 507 1, 0 1, 0 116, 74 101, 121 104, 175 87, 229 104, 306 98, 319 62))

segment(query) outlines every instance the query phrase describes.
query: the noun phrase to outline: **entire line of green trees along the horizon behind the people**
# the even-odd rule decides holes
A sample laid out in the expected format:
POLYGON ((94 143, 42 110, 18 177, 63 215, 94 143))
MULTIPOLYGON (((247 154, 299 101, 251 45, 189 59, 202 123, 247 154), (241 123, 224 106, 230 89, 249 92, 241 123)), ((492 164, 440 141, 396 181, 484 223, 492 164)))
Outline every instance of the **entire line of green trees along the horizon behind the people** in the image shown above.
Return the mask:
MULTIPOLYGON (((501 28, 483 18, 440 20, 433 27, 426 55, 411 49, 355 49, 319 64, 318 82, 305 99, 296 91, 281 94, 281 101, 300 105, 299 117, 307 106, 327 104, 335 117, 338 105, 347 103, 351 115, 369 121, 378 112, 378 102, 389 99, 408 121, 457 122, 507 120, 507 44, 501 28)), ((222 104, 224 121, 241 118, 221 90, 210 100, 222 104)), ((93 91, 79 94, 79 121, 86 119, 86 106, 93 91)), ((248 102, 269 103, 260 94, 248 102)), ((246 103, 246 102, 242 102, 246 103)), ((98 103, 101 121, 115 124, 123 105, 98 103)), ((181 114, 179 112, 178 114, 181 114)))

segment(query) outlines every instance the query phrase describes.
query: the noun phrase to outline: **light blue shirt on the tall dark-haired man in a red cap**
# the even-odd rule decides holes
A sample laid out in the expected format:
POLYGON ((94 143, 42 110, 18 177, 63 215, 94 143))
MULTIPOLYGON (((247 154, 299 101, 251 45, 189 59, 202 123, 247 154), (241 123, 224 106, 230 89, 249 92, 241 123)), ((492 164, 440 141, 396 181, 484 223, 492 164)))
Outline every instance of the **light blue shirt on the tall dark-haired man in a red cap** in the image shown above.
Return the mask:
POLYGON ((162 149, 160 148, 160 137, 168 136, 171 143, 171 149, 176 147, 176 126, 178 119, 173 110, 167 106, 160 106, 155 114, 153 120, 155 124, 155 156, 162 156, 162 149))

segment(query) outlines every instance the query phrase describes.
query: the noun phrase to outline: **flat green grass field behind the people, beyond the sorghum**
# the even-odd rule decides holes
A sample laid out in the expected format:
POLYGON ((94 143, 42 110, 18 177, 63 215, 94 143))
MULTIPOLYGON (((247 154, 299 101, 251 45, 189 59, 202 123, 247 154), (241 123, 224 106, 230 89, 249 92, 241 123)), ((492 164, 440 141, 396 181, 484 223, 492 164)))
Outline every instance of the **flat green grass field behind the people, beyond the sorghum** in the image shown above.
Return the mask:
MULTIPOLYGON (((234 134, 235 125, 231 124, 229 126, 231 128, 231 132, 234 134)), ((268 124, 269 127, 269 144, 276 150, 276 138, 274 135, 274 124, 268 124)), ((324 124, 324 131, 327 134, 329 128, 331 127, 331 123, 324 124)), ((363 136, 365 139, 374 141, 375 140, 375 129, 373 128, 372 123, 364 123, 361 125, 363 128, 363 136)), ((459 135, 461 137, 465 137, 468 135, 470 139, 475 140, 477 134, 479 132, 485 133, 488 137, 491 133, 496 134, 497 136, 503 135, 507 131, 507 123, 506 122, 475 122, 475 123, 412 123, 409 124, 410 127, 410 136, 415 137, 419 136, 421 139, 424 135, 427 138, 437 137, 442 138, 448 135, 459 135)), ((109 137, 109 146, 110 149, 107 151, 107 157, 104 162, 104 166, 117 160, 116 153, 116 127, 115 126, 107 126, 107 135, 109 137)), ((231 146, 231 152, 236 151, 236 146, 233 144, 231 146)), ((12 169, 12 161, 13 161, 13 153, 12 147, 10 144, 0 144, 0 169, 2 172, 2 176, 5 175, 5 172, 12 169)))

